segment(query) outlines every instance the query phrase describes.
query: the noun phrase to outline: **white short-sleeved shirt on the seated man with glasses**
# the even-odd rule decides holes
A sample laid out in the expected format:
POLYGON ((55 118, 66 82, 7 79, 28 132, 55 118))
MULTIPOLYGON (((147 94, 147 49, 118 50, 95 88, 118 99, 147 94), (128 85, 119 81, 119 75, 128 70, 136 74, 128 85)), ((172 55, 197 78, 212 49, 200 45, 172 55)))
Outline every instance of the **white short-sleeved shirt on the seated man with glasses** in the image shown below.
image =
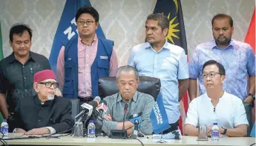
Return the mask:
POLYGON ((242 100, 225 91, 214 112, 214 106, 207 93, 193 99, 188 107, 185 124, 197 127, 198 125, 213 125, 214 122, 217 122, 218 127, 225 128, 249 125, 242 100))

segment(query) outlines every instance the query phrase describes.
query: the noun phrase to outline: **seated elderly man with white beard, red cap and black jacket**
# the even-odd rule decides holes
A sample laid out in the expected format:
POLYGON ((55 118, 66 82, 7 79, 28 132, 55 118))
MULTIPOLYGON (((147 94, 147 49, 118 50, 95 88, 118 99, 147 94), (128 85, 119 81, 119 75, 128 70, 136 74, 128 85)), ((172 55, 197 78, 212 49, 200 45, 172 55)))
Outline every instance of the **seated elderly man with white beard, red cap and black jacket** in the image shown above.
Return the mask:
POLYGON ((52 70, 42 70, 33 77, 36 96, 20 99, 9 132, 32 134, 59 133, 73 127, 72 104, 68 99, 55 96, 59 83, 52 70))

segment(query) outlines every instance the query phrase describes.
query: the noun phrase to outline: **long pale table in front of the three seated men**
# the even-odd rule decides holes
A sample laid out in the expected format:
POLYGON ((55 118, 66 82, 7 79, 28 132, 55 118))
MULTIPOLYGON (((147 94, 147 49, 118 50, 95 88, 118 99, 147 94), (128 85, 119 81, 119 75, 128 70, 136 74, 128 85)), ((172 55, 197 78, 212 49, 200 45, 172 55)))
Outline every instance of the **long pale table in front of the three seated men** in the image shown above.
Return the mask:
MULTIPOLYGON (((19 133, 9 133, 11 137, 21 136, 19 133)), ((255 138, 252 137, 224 137, 219 142, 197 141, 197 136, 183 136, 180 140, 165 140, 166 143, 159 144, 158 140, 147 138, 139 138, 146 146, 153 145, 171 145, 171 146, 188 146, 188 145, 252 145, 255 143, 255 138)), ((137 139, 109 139, 108 137, 97 137, 95 139, 82 138, 77 139, 72 136, 62 136, 59 139, 19 139, 7 140, 8 145, 88 145, 88 146, 142 146, 137 139)))

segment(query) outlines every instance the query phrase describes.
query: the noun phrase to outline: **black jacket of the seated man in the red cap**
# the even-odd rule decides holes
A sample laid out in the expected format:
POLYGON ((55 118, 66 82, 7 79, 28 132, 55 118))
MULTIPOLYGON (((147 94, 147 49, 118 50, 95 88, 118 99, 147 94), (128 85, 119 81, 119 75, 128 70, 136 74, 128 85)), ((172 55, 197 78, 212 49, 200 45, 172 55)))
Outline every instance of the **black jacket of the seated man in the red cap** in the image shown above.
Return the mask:
POLYGON ((45 103, 38 96, 20 99, 14 119, 8 120, 9 131, 12 132, 16 127, 26 131, 38 127, 53 127, 56 133, 68 130, 74 125, 71 107, 69 99, 57 96, 45 103))

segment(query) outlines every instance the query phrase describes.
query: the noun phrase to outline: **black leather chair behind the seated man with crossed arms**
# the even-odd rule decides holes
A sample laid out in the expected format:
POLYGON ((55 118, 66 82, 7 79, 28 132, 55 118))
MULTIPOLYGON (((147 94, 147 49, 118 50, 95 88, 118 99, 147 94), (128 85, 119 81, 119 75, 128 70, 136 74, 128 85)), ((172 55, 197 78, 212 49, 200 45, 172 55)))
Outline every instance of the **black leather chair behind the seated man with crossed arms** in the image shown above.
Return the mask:
MULTIPOLYGON (((161 82, 158 78, 140 76, 140 84, 137 90, 141 93, 147 93, 157 99, 160 92, 161 82)), ((116 84, 116 77, 104 77, 99 79, 99 96, 103 99, 118 93, 119 89, 116 84)))

